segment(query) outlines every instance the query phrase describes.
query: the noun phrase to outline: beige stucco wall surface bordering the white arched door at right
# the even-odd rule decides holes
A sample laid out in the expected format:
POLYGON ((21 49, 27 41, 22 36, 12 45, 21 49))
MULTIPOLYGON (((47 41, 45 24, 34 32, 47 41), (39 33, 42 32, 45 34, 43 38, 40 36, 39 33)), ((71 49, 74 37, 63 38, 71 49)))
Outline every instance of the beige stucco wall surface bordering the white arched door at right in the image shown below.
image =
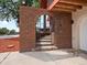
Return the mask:
POLYGON ((80 48, 80 28, 81 23, 87 19, 87 7, 84 7, 81 10, 77 10, 76 12, 73 12, 73 47, 74 48, 80 48))

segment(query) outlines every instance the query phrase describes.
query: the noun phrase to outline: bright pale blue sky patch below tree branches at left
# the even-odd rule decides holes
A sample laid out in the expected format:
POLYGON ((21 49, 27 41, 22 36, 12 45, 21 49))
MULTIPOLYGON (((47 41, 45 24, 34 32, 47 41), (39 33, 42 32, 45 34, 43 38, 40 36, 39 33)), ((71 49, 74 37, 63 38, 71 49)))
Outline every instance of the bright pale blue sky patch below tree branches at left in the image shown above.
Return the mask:
POLYGON ((0 28, 7 28, 9 30, 15 30, 17 32, 19 32, 19 28, 17 26, 17 23, 14 20, 7 22, 7 21, 0 21, 0 28))

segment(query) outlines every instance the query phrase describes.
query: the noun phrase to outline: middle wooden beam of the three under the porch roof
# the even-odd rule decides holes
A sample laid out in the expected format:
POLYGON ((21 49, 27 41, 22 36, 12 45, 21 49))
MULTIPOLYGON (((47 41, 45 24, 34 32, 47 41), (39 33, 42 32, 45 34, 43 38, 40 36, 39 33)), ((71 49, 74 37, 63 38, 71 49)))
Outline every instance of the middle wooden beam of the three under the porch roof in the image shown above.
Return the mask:
POLYGON ((55 4, 55 7, 67 8, 67 9, 81 9, 81 6, 75 6, 75 4, 62 3, 62 2, 58 2, 57 4, 55 4))

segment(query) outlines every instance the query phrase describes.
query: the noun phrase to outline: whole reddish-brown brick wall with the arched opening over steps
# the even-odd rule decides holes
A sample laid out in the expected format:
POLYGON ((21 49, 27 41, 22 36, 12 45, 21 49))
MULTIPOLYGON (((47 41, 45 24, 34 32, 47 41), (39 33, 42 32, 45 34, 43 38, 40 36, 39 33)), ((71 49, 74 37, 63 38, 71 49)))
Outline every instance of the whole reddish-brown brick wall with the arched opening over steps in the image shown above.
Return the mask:
POLYGON ((35 23, 42 14, 48 14, 51 18, 52 43, 58 48, 72 48, 72 13, 22 6, 20 8, 20 52, 35 48, 35 23))

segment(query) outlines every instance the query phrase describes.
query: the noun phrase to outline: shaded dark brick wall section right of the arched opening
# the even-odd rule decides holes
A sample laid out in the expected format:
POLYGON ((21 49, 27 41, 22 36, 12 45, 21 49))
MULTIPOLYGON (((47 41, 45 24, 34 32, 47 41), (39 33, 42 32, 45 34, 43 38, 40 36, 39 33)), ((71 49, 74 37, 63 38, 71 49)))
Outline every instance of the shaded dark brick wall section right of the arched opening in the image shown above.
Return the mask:
POLYGON ((53 43, 58 48, 72 47, 72 14, 67 12, 51 12, 54 22, 53 43))

